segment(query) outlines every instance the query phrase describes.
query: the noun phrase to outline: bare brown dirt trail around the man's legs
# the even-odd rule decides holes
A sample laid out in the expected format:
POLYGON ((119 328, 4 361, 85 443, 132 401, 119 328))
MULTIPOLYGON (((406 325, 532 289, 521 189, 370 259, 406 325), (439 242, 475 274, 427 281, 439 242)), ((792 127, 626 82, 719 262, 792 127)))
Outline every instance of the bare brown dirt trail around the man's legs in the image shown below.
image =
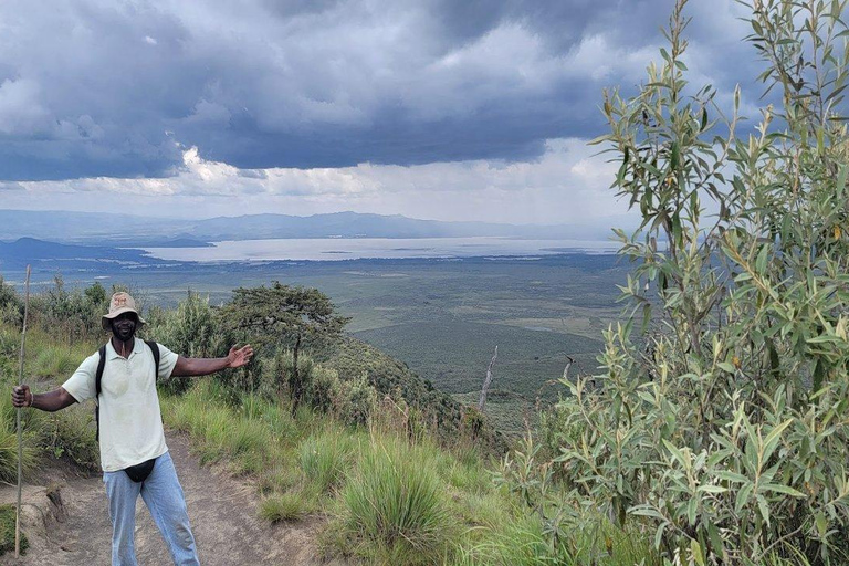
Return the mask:
MULTIPOLYGON (((201 468, 190 454, 185 437, 167 437, 186 492, 201 564, 321 564, 315 546, 318 520, 269 525, 256 516, 255 488, 220 471, 201 468)), ((30 549, 20 559, 14 558, 13 552, 0 557, 0 565, 108 565, 112 525, 103 480, 99 475, 74 478, 57 470, 50 473, 59 475, 54 481, 60 485, 61 507, 48 499, 45 486, 25 485, 22 521, 30 549)), ((14 486, 0 489, 0 503, 13 503, 15 497, 14 486)), ((140 497, 136 507, 136 554, 142 566, 171 564, 140 497)))

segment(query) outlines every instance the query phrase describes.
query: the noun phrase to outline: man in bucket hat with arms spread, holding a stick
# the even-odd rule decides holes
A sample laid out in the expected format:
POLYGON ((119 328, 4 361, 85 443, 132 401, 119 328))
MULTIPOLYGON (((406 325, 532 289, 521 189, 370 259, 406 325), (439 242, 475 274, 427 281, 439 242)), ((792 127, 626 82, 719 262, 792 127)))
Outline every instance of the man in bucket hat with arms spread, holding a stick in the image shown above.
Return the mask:
POLYGON ((29 386, 15 387, 12 403, 52 412, 99 397, 101 465, 113 525, 113 566, 137 564, 134 531, 139 494, 168 545, 174 564, 198 565, 182 488, 165 444, 156 378, 203 376, 241 367, 250 361, 253 348, 233 346, 223 358, 185 358, 157 345, 159 366, 155 368, 154 352, 135 338, 145 321, 129 294, 112 296, 102 324, 104 329, 112 331, 112 339, 101 350, 105 352, 105 364, 99 396, 96 374, 101 355, 95 353, 57 389, 38 395, 29 386))

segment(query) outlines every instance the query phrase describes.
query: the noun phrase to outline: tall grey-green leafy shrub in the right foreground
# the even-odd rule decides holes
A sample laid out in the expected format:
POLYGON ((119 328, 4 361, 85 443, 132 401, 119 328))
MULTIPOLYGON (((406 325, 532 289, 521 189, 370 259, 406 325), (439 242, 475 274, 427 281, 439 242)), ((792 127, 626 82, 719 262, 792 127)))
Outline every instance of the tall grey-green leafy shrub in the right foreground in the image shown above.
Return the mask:
POLYGON ((754 2, 748 40, 780 103, 743 138, 740 91, 725 117, 685 80, 684 3, 640 93, 606 94, 597 140, 643 219, 618 232, 633 310, 605 333, 604 373, 563 380, 544 434, 560 455, 512 484, 551 539, 574 505, 647 530, 674 564, 845 563, 847 1, 754 2), (553 475, 574 503, 533 499, 553 475))

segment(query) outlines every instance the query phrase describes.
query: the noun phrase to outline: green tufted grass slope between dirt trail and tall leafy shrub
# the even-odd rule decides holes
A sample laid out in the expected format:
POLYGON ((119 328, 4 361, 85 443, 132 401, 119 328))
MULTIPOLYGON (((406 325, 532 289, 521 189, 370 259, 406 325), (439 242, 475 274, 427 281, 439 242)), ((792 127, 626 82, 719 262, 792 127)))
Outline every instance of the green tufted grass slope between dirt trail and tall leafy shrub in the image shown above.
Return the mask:
POLYGON ((650 537, 598 517, 553 548, 541 520, 493 483, 492 462, 471 442, 447 450, 307 408, 293 419, 286 406, 253 396, 233 406, 211 380, 163 405, 167 423, 189 432, 205 461, 255 479, 262 518, 328 517, 321 535, 328 556, 386 565, 657 564, 650 537))

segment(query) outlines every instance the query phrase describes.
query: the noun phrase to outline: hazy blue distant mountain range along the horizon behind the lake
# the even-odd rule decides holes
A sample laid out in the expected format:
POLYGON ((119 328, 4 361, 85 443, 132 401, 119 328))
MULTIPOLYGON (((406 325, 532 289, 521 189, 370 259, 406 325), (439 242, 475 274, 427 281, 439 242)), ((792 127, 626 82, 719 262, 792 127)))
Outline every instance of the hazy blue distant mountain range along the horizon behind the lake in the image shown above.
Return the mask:
POLYGON ((0 210, 0 241, 38 238, 62 243, 191 247, 222 240, 272 238, 461 238, 602 240, 607 229, 580 226, 442 222, 402 216, 335 212, 296 217, 251 214, 205 220, 66 211, 0 210))

